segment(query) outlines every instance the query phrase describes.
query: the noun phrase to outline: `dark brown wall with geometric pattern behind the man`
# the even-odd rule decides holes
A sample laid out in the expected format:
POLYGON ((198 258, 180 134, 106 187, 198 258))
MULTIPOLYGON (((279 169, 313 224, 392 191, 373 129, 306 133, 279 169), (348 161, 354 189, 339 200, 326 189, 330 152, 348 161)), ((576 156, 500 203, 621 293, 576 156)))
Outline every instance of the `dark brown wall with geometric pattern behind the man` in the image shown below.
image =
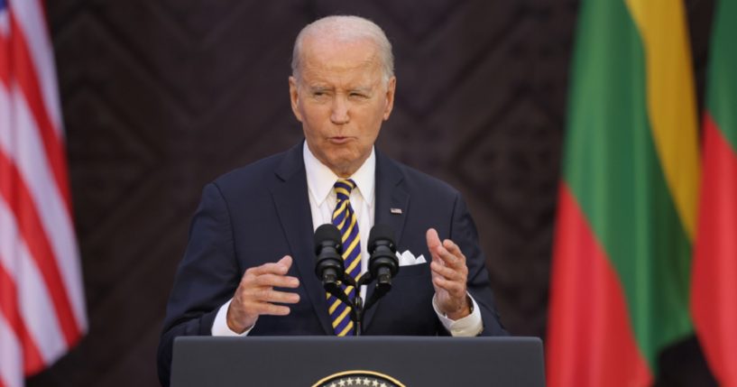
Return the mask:
MULTIPOLYGON (((201 189, 300 140, 291 45, 327 14, 385 29, 398 94, 379 146, 465 194, 503 323, 545 335, 577 1, 47 3, 90 332, 29 385, 157 385, 164 306, 201 189)), ((686 3, 702 85, 713 0, 686 3)), ((675 356, 695 356, 685 353, 675 356)))

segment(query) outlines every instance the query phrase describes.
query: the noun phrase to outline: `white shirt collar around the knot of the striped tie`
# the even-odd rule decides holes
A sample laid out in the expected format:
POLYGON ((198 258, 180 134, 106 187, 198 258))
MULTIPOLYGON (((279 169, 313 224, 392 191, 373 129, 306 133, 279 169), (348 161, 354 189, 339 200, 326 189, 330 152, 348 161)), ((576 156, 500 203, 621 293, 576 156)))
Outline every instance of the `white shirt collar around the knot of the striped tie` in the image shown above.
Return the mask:
MULTIPOLYGON (((318 206, 321 206, 333 191, 333 185, 336 183, 336 180, 340 178, 332 170, 327 168, 327 165, 319 161, 318 158, 309 151, 307 142, 303 145, 302 155, 305 161, 309 193, 313 198, 315 198, 318 206)), ((354 180, 356 189, 358 189, 361 196, 369 205, 373 202, 373 184, 376 176, 375 172, 376 154, 372 147, 371 154, 368 159, 366 159, 364 164, 361 165, 361 167, 355 171, 353 176, 349 178, 354 180)))

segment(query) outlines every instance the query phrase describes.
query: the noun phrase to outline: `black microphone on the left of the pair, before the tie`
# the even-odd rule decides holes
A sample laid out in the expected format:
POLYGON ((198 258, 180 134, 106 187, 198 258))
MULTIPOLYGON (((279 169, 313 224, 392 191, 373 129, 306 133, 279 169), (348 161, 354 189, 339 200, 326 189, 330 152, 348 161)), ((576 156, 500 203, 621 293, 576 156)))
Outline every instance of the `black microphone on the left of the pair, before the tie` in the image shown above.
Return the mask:
POLYGON ((326 286, 343 280, 343 239, 336 226, 325 224, 315 230, 315 274, 326 286))

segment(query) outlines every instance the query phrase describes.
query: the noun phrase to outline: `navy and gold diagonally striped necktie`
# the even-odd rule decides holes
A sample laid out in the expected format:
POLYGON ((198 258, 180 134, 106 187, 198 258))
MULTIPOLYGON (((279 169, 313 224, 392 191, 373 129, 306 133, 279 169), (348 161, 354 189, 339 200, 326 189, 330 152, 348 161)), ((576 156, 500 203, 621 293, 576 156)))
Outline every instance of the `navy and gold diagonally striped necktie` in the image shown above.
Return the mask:
MULTIPOLYGON (((340 230, 343 236, 345 273, 357 280, 361 274, 361 235, 358 234, 358 219, 355 217, 350 202, 351 190, 355 189, 355 182, 354 180, 337 180, 334 189, 337 203, 336 210, 333 211, 333 225, 340 230)), ((353 286, 343 285, 343 291, 349 299, 355 298, 353 286)), ((350 316, 351 308, 330 294, 327 295, 327 305, 329 305, 327 311, 333 322, 333 331, 336 336, 352 336, 354 332, 350 316)))

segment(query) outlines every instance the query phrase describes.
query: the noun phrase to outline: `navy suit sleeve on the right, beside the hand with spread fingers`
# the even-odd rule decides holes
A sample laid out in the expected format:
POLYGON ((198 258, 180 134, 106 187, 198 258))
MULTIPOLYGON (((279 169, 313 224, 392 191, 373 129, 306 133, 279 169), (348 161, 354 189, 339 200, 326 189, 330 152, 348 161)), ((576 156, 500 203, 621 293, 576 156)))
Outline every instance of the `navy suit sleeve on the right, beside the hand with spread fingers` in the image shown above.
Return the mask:
POLYGON ((458 244, 465 254, 465 263, 468 266, 468 292, 481 309, 481 318, 484 330, 480 336, 507 336, 502 327, 499 313, 493 302, 489 272, 486 271, 486 258, 479 246, 478 232, 474 219, 468 213, 464 199, 458 194, 453 209, 453 223, 450 230, 450 239, 458 244))

